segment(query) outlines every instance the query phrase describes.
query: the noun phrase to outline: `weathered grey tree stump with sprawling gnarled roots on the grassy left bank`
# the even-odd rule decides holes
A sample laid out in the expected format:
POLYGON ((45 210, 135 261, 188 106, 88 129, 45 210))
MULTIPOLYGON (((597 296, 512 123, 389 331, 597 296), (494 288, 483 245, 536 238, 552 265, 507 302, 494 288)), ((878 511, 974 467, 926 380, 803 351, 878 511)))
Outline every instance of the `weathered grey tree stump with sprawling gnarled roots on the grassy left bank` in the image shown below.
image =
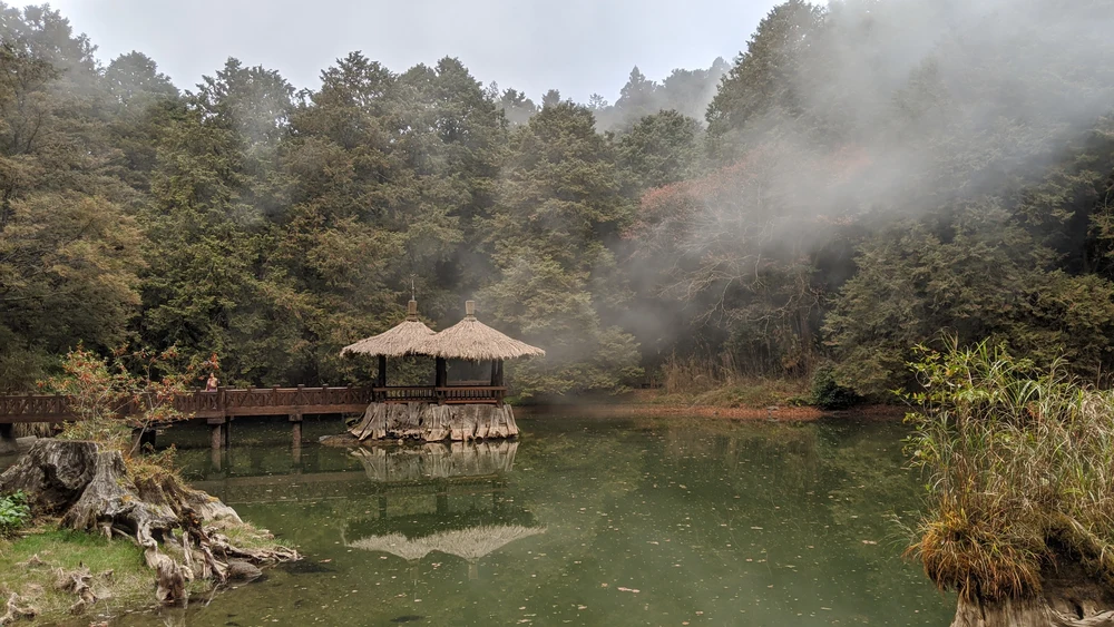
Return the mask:
MULTIPOLYGON (((231 561, 257 566, 299 559, 285 547, 234 546, 213 525, 242 523, 232 508, 170 473, 129 477, 119 451, 96 442, 37 441, 0 474, 0 492, 16 490, 31 496, 37 515, 61 516, 63 527, 136 542, 156 572, 156 598, 165 604, 184 601, 186 584, 195 579, 226 582, 231 561)), ((59 584, 78 597, 72 611, 96 602, 87 571, 65 575, 59 584)))

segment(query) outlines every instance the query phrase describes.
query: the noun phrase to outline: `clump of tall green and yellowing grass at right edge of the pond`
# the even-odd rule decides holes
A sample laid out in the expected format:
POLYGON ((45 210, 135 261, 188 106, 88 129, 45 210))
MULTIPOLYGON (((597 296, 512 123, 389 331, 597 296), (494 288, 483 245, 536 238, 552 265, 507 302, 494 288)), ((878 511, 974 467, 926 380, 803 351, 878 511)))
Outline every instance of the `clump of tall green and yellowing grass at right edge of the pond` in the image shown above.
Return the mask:
POLYGON ((929 508, 907 555, 968 601, 1037 598, 1064 559, 1114 584, 1114 393, 987 342, 918 354, 903 396, 929 508))

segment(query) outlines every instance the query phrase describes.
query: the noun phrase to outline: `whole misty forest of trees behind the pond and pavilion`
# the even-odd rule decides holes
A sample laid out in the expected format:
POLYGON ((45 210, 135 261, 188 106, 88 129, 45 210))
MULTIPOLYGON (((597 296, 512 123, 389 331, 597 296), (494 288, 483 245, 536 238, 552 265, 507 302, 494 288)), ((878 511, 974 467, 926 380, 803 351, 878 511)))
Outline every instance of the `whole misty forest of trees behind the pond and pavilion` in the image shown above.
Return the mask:
MULTIPOLYGON (((520 392, 671 355, 866 394, 941 331, 1114 365, 1114 0, 774 8, 731 62, 536 104, 352 52, 192 89, 0 4, 0 391, 82 343, 343 384, 404 315, 548 356, 520 392)), ((745 33, 740 33, 744 41, 745 33)))

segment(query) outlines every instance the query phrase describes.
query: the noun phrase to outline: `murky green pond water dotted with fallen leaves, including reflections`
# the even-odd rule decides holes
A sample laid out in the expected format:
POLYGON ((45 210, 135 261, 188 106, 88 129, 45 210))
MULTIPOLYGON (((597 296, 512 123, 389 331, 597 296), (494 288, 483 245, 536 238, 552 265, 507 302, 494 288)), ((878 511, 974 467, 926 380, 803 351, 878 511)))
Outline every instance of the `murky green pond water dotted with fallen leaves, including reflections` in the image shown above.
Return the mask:
POLYGON ((195 486, 293 542, 264 580, 120 625, 947 625, 900 557, 920 507, 896 423, 524 417, 516 442, 317 444, 237 421, 195 486))

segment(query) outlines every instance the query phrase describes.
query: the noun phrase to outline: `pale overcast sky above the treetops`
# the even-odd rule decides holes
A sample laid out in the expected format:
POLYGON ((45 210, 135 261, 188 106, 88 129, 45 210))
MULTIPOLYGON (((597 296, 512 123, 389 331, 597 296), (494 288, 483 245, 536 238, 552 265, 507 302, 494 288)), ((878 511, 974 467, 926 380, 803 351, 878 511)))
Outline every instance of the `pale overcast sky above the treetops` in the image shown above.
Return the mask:
MULTIPOLYGON (((28 0, 29 2, 31 0, 28 0)), ((20 4, 20 2, 11 2, 20 4)), ((615 101, 631 68, 731 60, 774 0, 51 0, 105 62, 138 50, 184 89, 228 57, 296 87, 352 50, 393 71, 458 57, 472 76, 539 99, 615 101)))

